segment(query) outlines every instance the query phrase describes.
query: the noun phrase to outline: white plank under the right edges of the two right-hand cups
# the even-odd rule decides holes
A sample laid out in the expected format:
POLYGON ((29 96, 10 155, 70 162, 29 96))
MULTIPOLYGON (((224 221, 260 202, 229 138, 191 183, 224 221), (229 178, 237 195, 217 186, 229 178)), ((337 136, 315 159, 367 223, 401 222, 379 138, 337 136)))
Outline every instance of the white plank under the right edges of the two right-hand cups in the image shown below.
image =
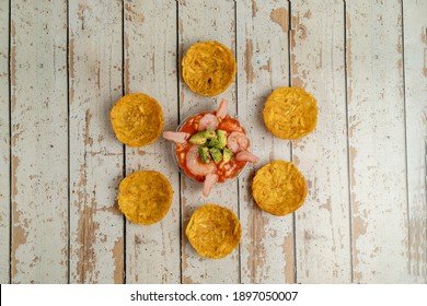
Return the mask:
POLYGON ((292 141, 308 196, 296 213, 297 282, 351 282, 344 3, 292 1, 292 86, 318 99, 315 131, 292 141))

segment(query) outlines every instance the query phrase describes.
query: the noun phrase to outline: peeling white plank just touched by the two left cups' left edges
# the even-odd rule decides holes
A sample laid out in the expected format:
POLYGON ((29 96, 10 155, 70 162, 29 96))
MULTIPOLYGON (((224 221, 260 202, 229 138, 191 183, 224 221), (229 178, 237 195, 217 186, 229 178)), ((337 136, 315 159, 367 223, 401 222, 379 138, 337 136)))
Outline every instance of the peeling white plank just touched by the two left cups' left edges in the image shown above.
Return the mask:
POLYGON ((70 282, 122 283, 123 145, 109 122, 123 92, 122 1, 69 5, 70 282))

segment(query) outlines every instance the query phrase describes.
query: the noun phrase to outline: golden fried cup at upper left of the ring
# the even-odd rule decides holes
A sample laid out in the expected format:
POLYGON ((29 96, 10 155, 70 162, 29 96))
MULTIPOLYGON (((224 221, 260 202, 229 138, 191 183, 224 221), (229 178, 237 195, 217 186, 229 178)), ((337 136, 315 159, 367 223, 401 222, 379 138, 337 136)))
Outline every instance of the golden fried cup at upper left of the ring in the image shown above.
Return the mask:
POLYGON ((113 106, 109 117, 117 139, 130 146, 153 143, 163 130, 162 108, 146 94, 123 96, 113 106))

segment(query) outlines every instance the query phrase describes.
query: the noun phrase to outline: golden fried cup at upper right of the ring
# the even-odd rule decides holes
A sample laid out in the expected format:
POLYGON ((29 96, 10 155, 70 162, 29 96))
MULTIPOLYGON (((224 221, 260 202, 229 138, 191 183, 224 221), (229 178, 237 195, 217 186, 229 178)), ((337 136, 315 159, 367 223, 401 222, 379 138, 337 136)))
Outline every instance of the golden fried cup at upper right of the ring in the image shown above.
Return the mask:
POLYGON ((281 139, 299 139, 311 133, 318 123, 315 98, 299 87, 278 87, 264 106, 264 122, 281 139))

